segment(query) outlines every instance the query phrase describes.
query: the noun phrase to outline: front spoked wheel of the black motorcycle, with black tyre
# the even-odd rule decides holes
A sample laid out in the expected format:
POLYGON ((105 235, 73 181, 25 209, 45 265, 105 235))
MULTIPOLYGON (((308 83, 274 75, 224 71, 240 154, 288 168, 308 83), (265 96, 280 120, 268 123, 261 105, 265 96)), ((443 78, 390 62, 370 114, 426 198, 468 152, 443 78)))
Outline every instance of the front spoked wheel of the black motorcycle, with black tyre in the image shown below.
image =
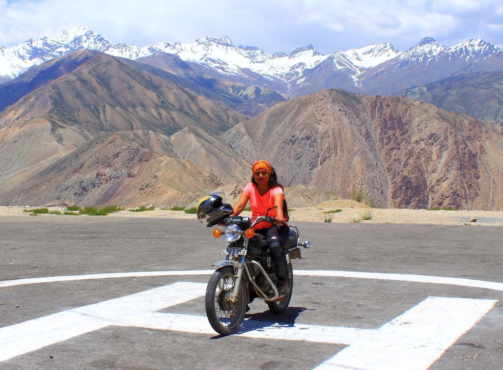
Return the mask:
POLYGON ((234 268, 226 266, 213 272, 206 288, 206 316, 211 327, 222 335, 235 333, 244 320, 248 291, 245 280, 241 280, 239 296, 233 303, 235 284, 234 268))

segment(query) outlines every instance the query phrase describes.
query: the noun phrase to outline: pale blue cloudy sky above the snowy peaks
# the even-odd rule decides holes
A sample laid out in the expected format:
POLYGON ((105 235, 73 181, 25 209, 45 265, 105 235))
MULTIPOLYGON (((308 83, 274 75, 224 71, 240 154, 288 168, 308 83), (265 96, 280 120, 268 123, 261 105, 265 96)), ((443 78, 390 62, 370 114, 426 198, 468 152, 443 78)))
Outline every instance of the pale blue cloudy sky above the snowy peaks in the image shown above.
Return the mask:
POLYGON ((425 36, 452 46, 481 38, 503 47, 502 0, 0 0, 0 45, 85 26, 112 43, 145 46, 228 36, 235 45, 322 54, 425 36))

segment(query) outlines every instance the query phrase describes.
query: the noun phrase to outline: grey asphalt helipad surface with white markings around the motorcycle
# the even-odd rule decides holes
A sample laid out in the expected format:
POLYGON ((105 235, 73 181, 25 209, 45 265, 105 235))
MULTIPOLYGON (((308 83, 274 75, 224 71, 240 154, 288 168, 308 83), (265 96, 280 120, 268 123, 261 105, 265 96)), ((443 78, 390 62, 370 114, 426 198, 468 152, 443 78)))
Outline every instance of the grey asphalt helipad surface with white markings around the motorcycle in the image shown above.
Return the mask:
POLYGON ((501 368, 501 227, 297 226, 287 313, 256 300, 221 337, 204 289, 225 242, 199 221, 0 217, 0 368, 501 368))

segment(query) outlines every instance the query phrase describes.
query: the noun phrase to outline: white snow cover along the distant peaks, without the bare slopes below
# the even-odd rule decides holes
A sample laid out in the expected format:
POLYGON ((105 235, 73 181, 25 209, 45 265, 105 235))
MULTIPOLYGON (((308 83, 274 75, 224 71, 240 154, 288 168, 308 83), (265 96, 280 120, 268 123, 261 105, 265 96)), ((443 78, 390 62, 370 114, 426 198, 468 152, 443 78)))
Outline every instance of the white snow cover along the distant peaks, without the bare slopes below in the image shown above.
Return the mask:
POLYGON ((432 37, 424 38, 406 52, 395 50, 389 43, 381 43, 327 55, 318 53, 312 45, 297 48, 288 54, 269 54, 253 46, 235 46, 227 36, 205 36, 192 43, 162 41, 138 47, 134 44, 111 44, 100 34, 85 27, 75 27, 51 37, 30 39, 11 48, 0 47, 0 76, 17 77, 34 65, 77 50, 94 50, 132 60, 158 53, 175 54, 184 61, 201 64, 224 75, 249 77, 250 72, 257 73, 269 80, 284 81, 288 86, 291 83, 308 83, 304 74, 306 70, 325 61, 333 63, 334 70, 347 70, 357 84, 363 71, 394 58, 398 58, 400 63, 410 63, 428 61, 443 53, 469 58, 501 52, 501 49, 480 39, 447 48, 432 37))

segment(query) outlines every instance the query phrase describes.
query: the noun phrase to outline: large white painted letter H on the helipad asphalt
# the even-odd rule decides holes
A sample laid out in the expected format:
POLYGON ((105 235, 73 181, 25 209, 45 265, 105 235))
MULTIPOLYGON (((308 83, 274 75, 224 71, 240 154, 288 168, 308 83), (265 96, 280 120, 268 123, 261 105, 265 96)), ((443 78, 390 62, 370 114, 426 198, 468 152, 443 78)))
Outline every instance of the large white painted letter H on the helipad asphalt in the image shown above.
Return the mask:
MULTIPOLYGON (((109 325, 214 335, 204 316, 155 312, 204 296, 206 284, 178 282, 0 328, 0 361, 109 325)), ((377 329, 247 320, 240 336, 348 344, 318 368, 426 369, 496 303, 429 297, 377 329)))

